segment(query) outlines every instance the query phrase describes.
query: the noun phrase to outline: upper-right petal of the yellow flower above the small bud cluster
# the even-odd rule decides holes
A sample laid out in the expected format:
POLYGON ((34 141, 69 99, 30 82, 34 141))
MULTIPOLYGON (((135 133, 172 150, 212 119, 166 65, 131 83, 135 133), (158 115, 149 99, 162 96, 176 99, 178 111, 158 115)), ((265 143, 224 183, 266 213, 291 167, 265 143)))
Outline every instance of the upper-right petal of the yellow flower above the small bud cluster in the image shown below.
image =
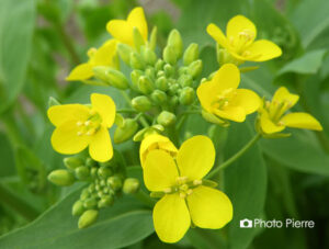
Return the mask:
POLYGON ((111 97, 92 93, 90 100, 92 109, 101 115, 102 123, 110 128, 115 120, 115 103, 111 97))

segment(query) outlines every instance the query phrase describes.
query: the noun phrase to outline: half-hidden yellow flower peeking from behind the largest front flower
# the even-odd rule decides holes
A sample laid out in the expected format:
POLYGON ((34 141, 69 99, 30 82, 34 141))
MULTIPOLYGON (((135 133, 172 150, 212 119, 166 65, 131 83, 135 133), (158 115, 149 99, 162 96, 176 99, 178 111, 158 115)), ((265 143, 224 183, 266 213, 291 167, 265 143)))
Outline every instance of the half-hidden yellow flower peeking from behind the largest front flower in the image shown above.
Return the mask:
POLYGON ((148 135, 143 139, 139 148, 139 158, 141 167, 144 167, 145 160, 149 151, 154 149, 161 149, 169 152, 171 156, 175 156, 178 149, 169 140, 168 137, 161 136, 159 134, 148 135))

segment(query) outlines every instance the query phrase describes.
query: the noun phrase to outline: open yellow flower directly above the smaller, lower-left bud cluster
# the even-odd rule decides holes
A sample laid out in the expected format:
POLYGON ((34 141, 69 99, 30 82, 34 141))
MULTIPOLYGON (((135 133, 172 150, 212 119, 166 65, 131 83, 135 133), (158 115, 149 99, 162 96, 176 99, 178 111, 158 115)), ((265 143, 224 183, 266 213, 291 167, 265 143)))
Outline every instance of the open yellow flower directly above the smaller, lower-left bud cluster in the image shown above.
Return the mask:
POLYGON ((113 147, 107 128, 115 118, 115 104, 104 94, 91 94, 91 106, 82 104, 54 105, 48 117, 56 126, 52 145, 60 154, 72 155, 89 146, 89 155, 97 161, 107 161, 113 147))

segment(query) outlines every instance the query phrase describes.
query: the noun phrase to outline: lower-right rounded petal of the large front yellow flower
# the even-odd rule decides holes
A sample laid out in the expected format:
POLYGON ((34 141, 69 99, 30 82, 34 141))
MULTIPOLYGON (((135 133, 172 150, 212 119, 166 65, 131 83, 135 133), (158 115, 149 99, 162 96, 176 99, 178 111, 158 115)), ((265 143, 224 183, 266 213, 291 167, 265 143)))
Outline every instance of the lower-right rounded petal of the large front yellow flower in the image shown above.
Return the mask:
POLYGON ((188 196, 192 222, 201 228, 218 229, 232 218, 232 205, 225 193, 208 186, 197 186, 188 196))

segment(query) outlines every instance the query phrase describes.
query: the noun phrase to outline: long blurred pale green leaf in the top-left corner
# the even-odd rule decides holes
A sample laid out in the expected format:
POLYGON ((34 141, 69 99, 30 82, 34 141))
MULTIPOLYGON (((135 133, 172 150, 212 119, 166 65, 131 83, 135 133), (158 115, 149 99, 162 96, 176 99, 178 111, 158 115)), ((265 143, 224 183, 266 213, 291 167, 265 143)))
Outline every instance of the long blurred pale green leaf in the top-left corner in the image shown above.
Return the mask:
POLYGON ((21 91, 31 55, 34 0, 0 2, 0 112, 21 91))

